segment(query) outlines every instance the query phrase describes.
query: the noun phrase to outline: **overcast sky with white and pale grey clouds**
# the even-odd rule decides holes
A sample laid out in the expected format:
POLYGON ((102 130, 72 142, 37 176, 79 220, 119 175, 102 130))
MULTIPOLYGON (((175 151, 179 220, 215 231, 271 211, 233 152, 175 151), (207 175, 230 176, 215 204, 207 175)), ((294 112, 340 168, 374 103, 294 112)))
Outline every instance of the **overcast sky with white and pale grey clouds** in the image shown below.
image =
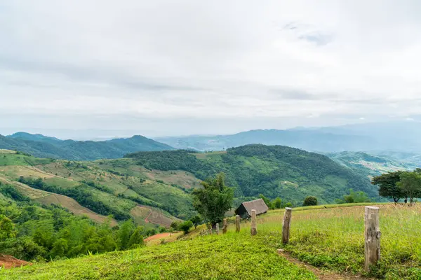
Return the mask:
POLYGON ((421 114, 421 2, 1 0, 0 134, 225 134, 421 114))

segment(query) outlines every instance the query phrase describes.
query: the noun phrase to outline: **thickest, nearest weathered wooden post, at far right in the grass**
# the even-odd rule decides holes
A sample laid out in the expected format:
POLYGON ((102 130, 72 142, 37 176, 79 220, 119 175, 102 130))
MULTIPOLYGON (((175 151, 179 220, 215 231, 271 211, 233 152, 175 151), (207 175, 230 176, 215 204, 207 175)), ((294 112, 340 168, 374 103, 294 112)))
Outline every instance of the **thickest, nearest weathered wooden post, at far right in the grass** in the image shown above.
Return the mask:
POLYGON ((366 206, 366 216, 364 217, 366 228, 364 235, 366 242, 364 243, 364 251, 366 253, 366 261, 364 269, 366 272, 370 270, 370 265, 375 265, 380 260, 380 225, 379 225, 379 207, 366 206))

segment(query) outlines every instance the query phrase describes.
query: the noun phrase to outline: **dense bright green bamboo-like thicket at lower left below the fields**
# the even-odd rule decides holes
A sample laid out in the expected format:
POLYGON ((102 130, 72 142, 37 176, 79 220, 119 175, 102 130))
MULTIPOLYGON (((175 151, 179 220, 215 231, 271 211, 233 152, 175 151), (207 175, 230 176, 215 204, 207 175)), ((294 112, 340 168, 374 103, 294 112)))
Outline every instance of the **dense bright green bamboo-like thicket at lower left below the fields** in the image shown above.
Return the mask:
POLYGON ((57 205, 30 202, 3 183, 0 193, 0 252, 23 260, 74 258, 89 252, 135 248, 143 244, 143 238, 138 237, 149 233, 144 228, 135 229, 131 220, 111 228, 111 220, 99 225, 57 205))

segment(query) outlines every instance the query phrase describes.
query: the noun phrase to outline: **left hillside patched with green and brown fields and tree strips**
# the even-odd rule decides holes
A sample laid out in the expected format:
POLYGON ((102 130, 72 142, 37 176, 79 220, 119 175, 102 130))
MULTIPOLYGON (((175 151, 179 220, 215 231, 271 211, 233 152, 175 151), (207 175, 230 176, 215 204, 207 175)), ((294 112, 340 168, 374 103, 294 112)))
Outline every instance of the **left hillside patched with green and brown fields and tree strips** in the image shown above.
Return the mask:
POLYGON ((140 171, 116 171, 118 166, 126 166, 126 161, 107 165, 106 161, 48 160, 2 151, 0 181, 15 186, 33 201, 58 204, 95 221, 104 221, 104 216, 112 214, 119 221, 133 218, 138 225, 169 227, 178 221, 175 216, 194 215, 190 197, 182 187, 152 181, 140 171))

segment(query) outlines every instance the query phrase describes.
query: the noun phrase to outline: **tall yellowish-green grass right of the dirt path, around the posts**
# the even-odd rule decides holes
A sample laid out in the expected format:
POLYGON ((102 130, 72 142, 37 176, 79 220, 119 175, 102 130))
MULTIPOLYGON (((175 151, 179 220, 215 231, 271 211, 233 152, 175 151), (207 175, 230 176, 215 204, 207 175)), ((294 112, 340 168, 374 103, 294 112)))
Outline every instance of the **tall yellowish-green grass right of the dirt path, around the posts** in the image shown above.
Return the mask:
MULTIPOLYGON (((293 210, 290 244, 296 258, 338 272, 363 272, 364 207, 355 204, 300 207, 293 210), (338 207, 340 206, 340 207, 338 207)), ((421 206, 379 204, 381 260, 370 276, 421 279, 421 206)), ((262 232, 281 234, 283 211, 269 212, 262 232)))

